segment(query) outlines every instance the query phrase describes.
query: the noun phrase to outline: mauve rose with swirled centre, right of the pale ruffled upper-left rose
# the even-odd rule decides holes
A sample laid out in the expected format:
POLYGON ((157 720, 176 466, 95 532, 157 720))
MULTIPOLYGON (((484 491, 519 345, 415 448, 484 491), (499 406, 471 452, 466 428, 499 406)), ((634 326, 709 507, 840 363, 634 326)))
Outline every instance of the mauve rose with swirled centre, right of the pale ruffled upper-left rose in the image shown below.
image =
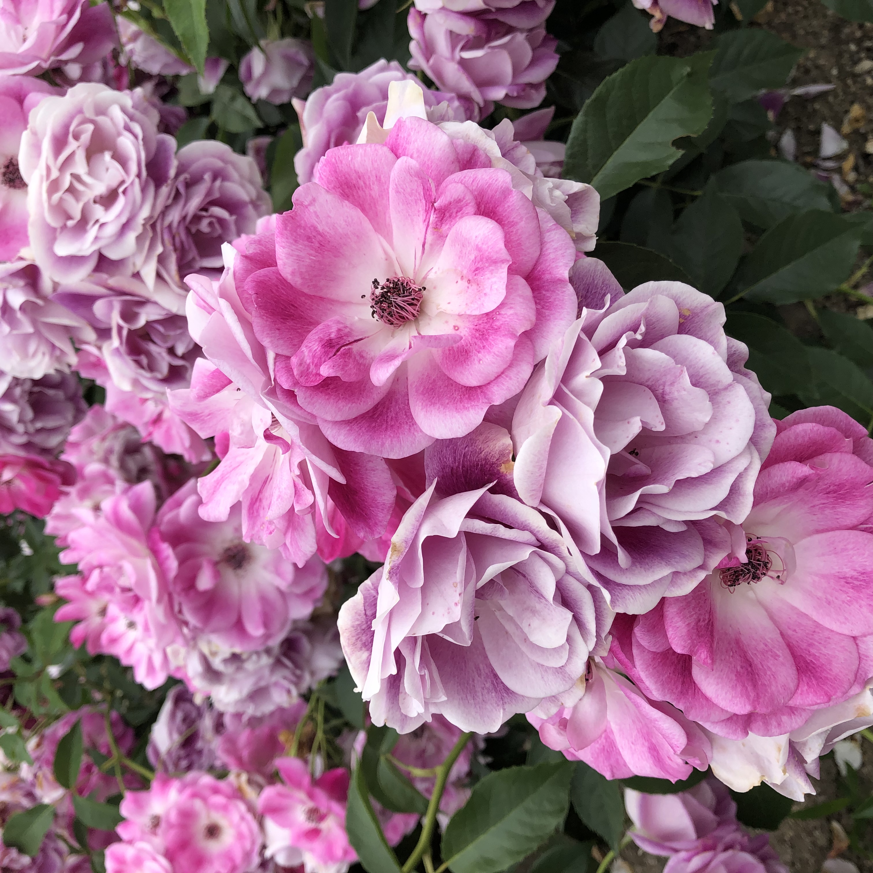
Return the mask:
POLYGON ((189 142, 176 154, 176 172, 160 217, 162 278, 180 293, 192 272, 223 269, 221 247, 255 232, 272 206, 256 163, 223 142, 189 142))

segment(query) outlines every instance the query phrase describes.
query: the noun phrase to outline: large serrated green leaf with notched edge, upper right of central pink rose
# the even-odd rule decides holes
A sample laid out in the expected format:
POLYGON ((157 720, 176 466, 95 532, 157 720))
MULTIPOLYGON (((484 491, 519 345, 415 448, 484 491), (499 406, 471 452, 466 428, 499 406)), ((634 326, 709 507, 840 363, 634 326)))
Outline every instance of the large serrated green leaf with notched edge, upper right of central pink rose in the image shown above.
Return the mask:
POLYGON ((681 154, 670 143, 710 120, 711 58, 638 58, 605 79, 573 122, 564 177, 606 199, 670 167, 681 154))

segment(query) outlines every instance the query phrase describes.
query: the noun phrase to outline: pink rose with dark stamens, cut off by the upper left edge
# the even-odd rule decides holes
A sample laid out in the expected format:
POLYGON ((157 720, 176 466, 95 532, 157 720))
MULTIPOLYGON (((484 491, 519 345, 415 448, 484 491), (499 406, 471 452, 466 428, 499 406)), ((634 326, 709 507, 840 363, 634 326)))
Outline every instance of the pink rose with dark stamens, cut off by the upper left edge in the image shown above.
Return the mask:
POLYGON ((40 100, 61 93, 42 79, 0 75, 0 261, 15 260, 28 244, 27 182, 18 168, 27 117, 40 100))

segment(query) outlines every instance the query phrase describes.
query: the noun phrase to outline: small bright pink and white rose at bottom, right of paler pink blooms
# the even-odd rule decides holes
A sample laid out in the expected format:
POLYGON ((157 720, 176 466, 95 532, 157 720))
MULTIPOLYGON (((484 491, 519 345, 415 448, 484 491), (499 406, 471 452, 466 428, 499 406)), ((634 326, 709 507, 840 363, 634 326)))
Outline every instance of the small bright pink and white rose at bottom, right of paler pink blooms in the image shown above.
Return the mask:
POLYGON ((279 758, 276 768, 284 784, 266 787, 258 798, 266 856, 283 867, 356 861, 346 834, 348 771, 328 770, 313 782, 299 758, 279 758))

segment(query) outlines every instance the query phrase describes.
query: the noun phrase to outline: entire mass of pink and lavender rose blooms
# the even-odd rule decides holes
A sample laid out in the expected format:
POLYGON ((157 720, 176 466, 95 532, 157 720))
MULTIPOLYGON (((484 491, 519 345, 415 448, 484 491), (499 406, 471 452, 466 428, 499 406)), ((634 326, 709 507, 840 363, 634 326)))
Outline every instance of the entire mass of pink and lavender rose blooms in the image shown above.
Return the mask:
MULTIPOLYGON (((708 0, 636 5, 711 26, 708 0)), ((711 768, 629 792, 668 870, 784 870, 725 785, 801 799, 873 725, 873 441, 827 406, 772 419, 711 296, 622 289, 551 110, 478 123, 540 106, 553 6, 416 0, 434 88, 378 60, 311 91, 296 38, 207 58, 202 93, 238 76, 299 117, 275 214, 264 143, 176 141, 162 96, 195 71, 155 34, 0 3, 0 513, 56 538, 73 646, 165 695, 154 778, 101 764, 136 742, 96 703, 29 739, 0 825, 55 817, 3 870, 342 873, 368 726, 444 825, 515 716, 609 780, 711 768), (344 670, 366 716, 328 738, 344 670)), ((420 814, 377 801, 395 846, 420 814)))

